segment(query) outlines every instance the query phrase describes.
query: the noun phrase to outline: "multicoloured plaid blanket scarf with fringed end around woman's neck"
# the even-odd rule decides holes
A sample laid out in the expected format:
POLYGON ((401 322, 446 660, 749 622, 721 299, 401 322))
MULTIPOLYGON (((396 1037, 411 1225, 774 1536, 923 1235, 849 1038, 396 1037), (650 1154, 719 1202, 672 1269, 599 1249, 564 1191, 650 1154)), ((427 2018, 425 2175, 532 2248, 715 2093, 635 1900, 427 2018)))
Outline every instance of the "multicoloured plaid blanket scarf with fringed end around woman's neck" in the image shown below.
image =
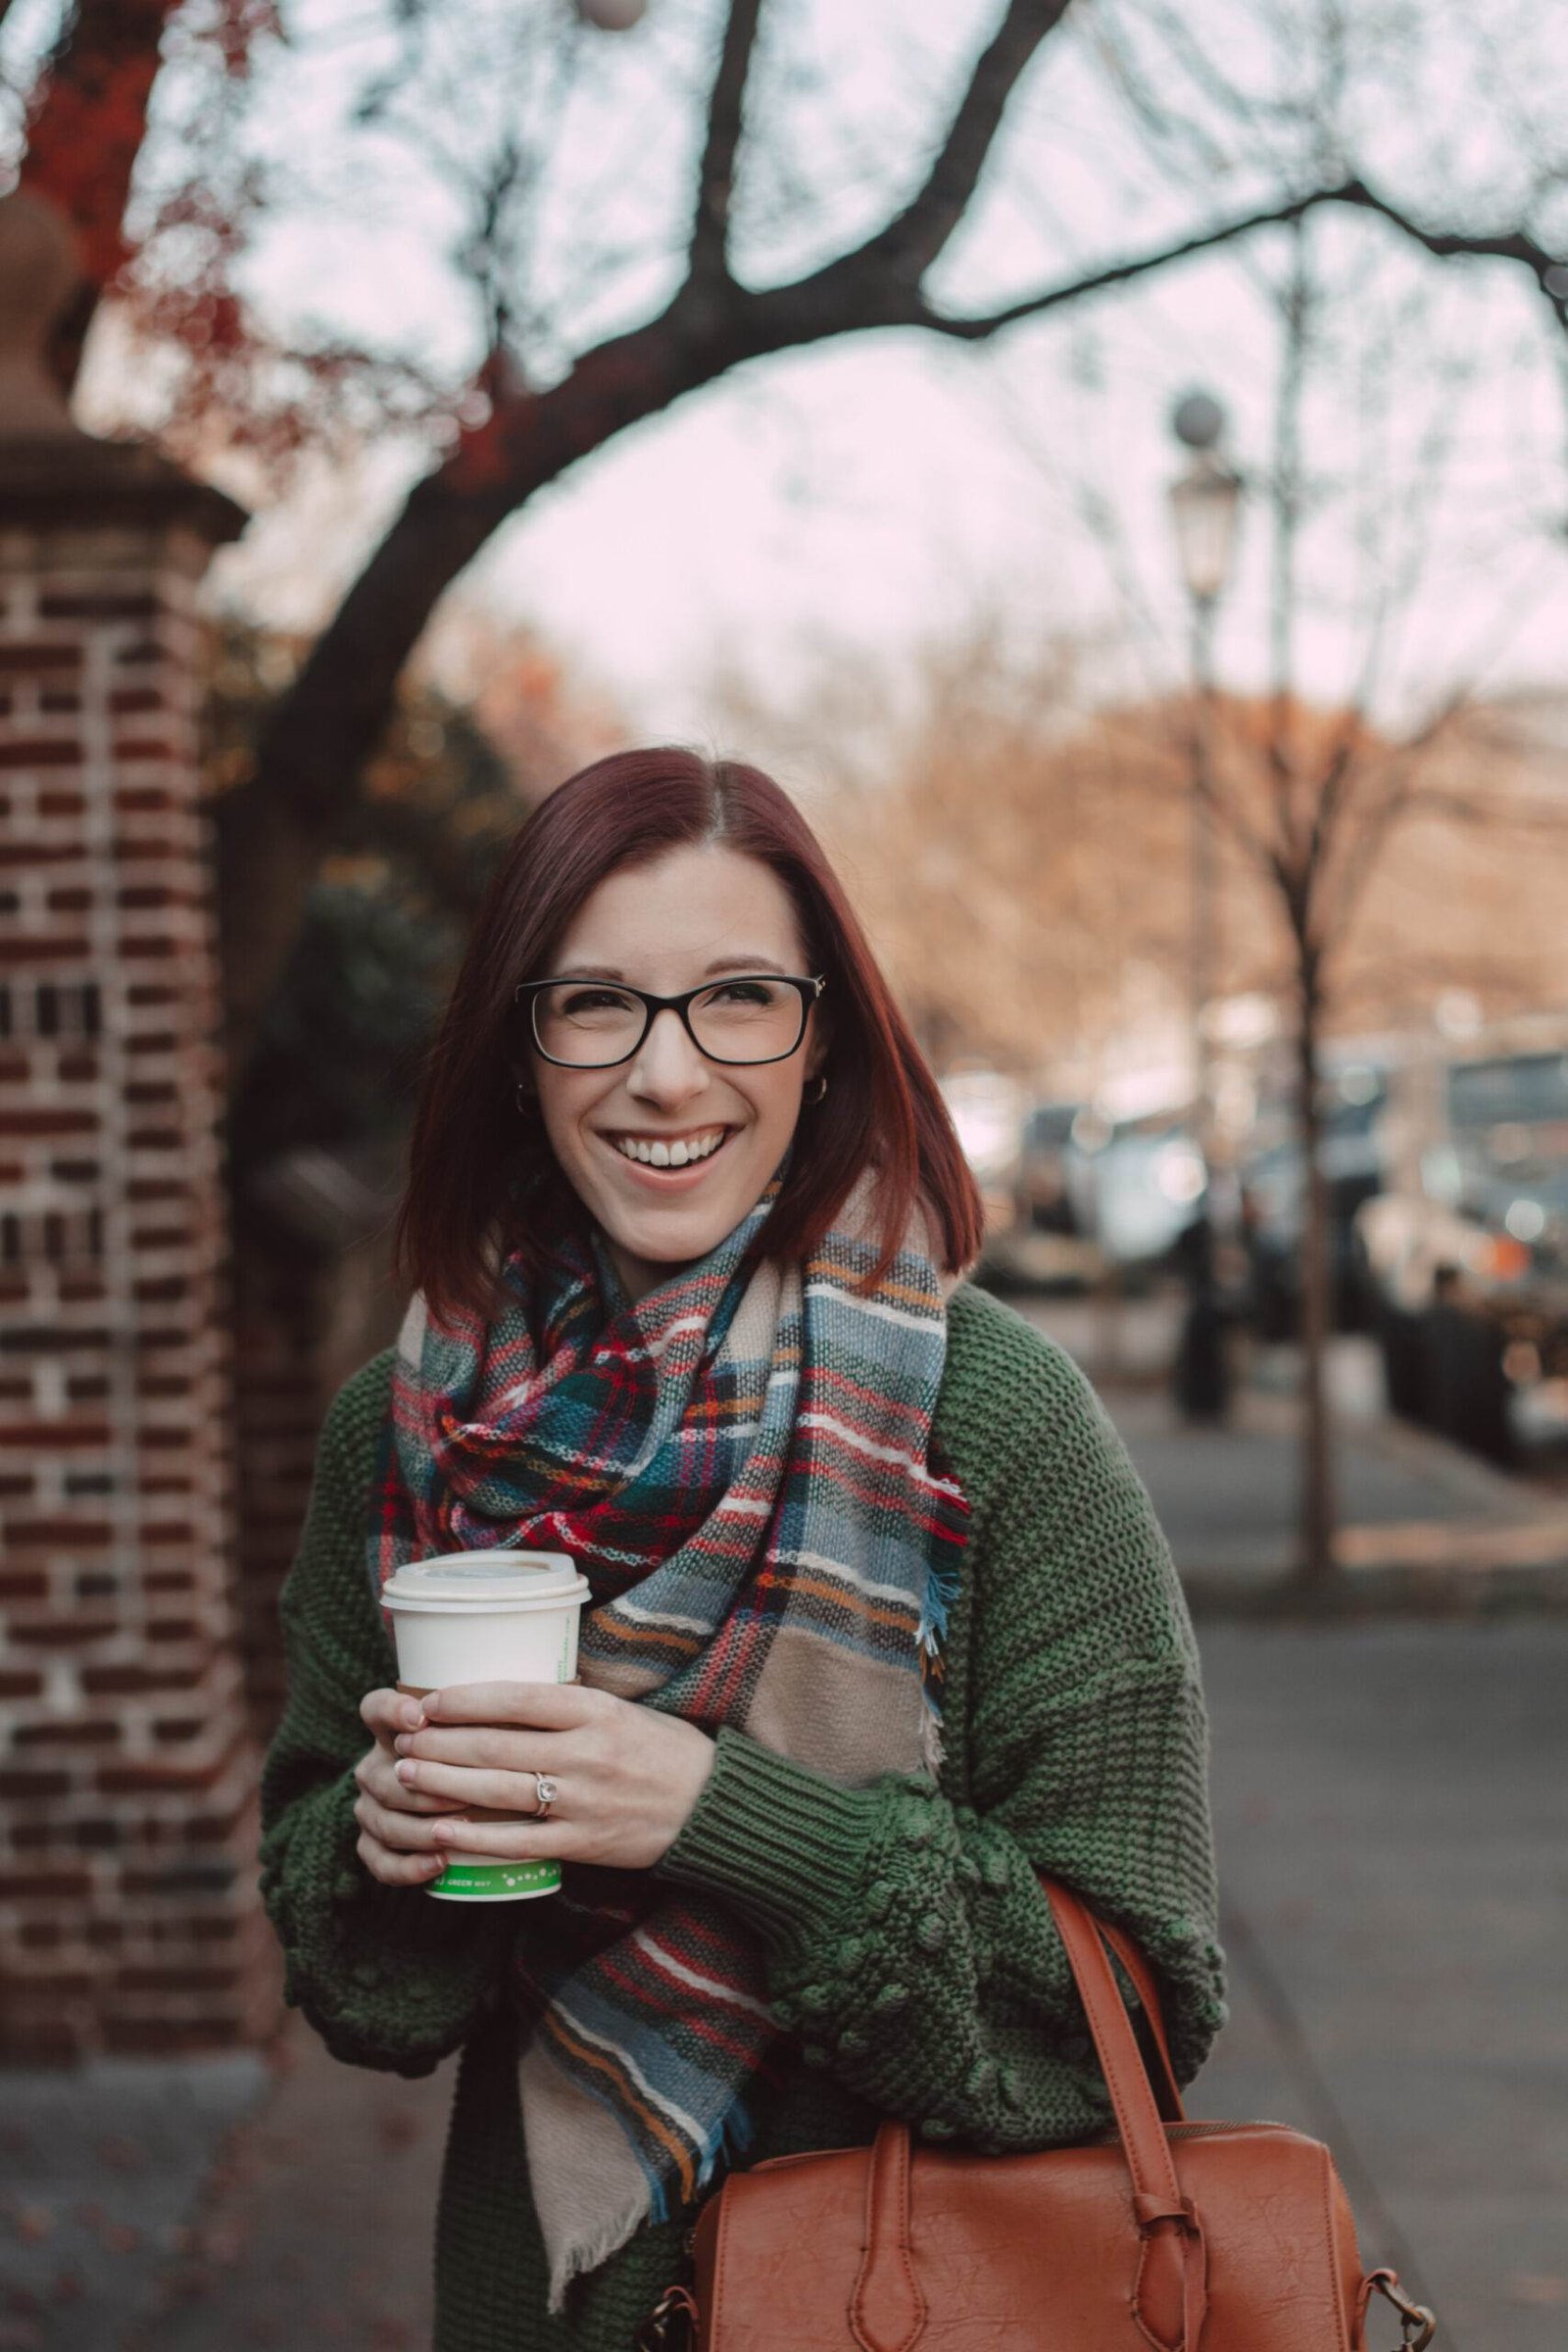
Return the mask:
MULTIPOLYGON (((780 1192, 630 1305, 602 1237, 505 1310, 409 1305, 369 1531, 404 1559, 564 1550, 592 1588, 581 1672, 846 1783, 933 1773, 940 1635, 969 1508, 931 1458, 947 1345, 914 1221, 870 1294, 870 1178, 804 1265, 748 1251, 780 1192)), ((569 1865, 515 1940, 529 2183, 550 2307, 750 2140, 778 2072, 762 1947, 649 1872, 569 1865)))

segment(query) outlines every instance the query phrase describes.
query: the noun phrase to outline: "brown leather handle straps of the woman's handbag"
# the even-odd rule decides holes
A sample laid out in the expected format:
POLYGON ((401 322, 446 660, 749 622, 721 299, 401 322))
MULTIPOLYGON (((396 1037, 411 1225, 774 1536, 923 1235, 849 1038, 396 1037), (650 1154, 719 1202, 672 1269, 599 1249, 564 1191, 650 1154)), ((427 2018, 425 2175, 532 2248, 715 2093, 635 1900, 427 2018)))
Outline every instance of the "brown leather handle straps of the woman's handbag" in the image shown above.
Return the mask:
MULTIPOLYGON (((1133 2317, 1159 2352, 1197 2352, 1208 2310, 1208 2263, 1204 2230, 1192 2199, 1182 2197, 1161 2119, 1164 2105, 1173 2110, 1171 2122, 1178 2122, 1182 2100, 1171 2070, 1154 1976, 1138 1947, 1119 1929, 1095 1919, 1067 1886, 1046 1877, 1039 1884, 1079 1987, 1133 2180, 1133 2218, 1140 2237, 1133 2317), (1107 1945, 1133 1980, 1150 2020, 1157 2049, 1154 2082, 1138 2049, 1107 1945)), ((849 2326, 860 2352, 912 2352, 926 2326, 926 2305, 910 2258, 910 2126, 891 2119, 879 2126, 872 2143, 865 2253, 849 2326)))

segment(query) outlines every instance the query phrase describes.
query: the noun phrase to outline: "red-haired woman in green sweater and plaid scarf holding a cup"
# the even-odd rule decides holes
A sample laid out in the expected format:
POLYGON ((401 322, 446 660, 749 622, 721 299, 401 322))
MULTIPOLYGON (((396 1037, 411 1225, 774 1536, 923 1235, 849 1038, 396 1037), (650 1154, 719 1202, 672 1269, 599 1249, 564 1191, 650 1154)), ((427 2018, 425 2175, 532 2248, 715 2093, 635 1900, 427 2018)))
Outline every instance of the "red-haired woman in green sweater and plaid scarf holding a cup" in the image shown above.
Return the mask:
POLYGON ((414 1131, 397 1350, 336 1397, 263 1783, 287 1997, 463 2051, 442 2352, 630 2352, 726 2164, 1107 2114, 1037 1872, 1222 2018, 1197 1653, 818 842, 757 769, 599 760, 480 915, 414 1131), (395 1691, 409 1557, 567 1550, 581 1686, 395 1691), (369 1748, 367 1748, 369 1733, 369 1748), (475 1912, 461 1846, 559 1856, 475 1912))

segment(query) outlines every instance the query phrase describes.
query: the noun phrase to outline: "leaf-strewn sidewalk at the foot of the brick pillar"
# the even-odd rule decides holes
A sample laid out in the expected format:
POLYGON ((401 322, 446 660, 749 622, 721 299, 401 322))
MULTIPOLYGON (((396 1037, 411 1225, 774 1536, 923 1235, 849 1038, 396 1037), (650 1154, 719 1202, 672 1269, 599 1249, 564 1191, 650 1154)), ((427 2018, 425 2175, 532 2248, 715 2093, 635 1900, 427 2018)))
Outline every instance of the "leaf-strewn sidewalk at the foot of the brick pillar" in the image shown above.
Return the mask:
POLYGON ((423 2352, 454 2065, 266 2056, 0 2077, 0 2352, 423 2352))

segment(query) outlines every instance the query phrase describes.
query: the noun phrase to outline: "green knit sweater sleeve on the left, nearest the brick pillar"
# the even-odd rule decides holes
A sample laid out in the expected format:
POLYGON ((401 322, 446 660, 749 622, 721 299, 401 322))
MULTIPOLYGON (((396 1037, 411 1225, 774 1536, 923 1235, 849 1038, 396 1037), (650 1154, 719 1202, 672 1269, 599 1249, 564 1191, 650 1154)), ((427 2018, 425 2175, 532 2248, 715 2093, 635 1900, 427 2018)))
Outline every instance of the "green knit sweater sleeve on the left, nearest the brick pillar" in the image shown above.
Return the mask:
POLYGON ((505 1905, 475 1912, 383 1886, 357 1856, 353 1769, 371 1743, 360 1700, 397 1679, 364 1569, 386 1385, 378 1357, 334 1399, 282 1590, 289 1700, 261 1773, 261 1896, 284 1999, 334 2058, 428 2074, 498 1999, 505 1905))

